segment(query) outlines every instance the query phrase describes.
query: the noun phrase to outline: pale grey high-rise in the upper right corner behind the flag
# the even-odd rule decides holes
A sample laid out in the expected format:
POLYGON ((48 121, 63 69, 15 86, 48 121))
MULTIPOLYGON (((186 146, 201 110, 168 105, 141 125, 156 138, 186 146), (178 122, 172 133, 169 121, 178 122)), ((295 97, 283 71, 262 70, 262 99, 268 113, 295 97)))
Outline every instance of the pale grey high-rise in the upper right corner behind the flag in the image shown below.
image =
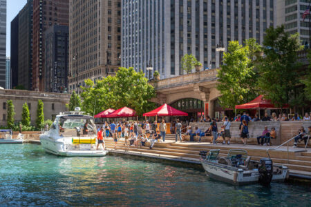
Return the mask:
POLYGON ((310 44, 309 15, 303 20, 302 14, 307 10, 311 0, 276 0, 276 25, 285 25, 290 34, 298 32, 301 43, 310 44))

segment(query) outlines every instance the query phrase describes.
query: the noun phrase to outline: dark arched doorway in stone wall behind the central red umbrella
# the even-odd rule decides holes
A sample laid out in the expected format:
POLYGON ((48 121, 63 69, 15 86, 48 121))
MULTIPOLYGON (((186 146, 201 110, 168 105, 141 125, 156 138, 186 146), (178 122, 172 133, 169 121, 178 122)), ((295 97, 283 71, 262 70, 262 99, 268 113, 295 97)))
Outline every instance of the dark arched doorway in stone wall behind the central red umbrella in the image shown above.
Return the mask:
POLYGON ((201 115, 204 115, 204 102, 200 99, 179 99, 169 105, 188 113, 189 117, 181 117, 182 121, 189 121, 191 118, 198 120, 201 115))

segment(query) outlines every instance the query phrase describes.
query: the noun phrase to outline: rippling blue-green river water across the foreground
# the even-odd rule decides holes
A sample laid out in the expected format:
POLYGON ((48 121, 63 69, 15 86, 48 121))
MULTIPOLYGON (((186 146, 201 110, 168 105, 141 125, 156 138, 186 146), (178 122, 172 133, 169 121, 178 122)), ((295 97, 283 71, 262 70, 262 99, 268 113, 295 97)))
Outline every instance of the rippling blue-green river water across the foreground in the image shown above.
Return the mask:
POLYGON ((236 187, 182 164, 133 157, 56 157, 0 145, 0 206, 311 206, 307 185, 236 187))

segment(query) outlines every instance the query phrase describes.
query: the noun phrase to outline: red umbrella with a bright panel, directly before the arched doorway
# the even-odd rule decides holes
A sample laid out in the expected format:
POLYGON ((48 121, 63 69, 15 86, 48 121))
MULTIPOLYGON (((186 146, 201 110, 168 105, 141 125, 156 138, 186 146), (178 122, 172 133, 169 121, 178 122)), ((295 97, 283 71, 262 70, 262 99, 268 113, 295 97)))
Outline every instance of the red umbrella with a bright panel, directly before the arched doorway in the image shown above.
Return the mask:
POLYGON ((169 105, 167 105, 167 103, 164 103, 162 106, 160 106, 159 108, 156 108, 155 110, 151 110, 151 112, 147 112, 144 113, 144 117, 166 117, 166 116, 188 116, 188 114, 186 112, 182 112, 180 110, 177 110, 176 108, 173 108, 169 105))

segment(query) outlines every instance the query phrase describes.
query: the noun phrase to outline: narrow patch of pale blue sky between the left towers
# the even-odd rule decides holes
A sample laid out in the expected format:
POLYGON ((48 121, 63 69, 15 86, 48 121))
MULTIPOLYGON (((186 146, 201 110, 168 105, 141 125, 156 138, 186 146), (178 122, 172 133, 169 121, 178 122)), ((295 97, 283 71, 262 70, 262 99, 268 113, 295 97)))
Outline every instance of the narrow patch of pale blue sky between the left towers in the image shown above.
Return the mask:
POLYGON ((25 6, 27 0, 6 0, 6 56, 10 57, 11 21, 25 6))

